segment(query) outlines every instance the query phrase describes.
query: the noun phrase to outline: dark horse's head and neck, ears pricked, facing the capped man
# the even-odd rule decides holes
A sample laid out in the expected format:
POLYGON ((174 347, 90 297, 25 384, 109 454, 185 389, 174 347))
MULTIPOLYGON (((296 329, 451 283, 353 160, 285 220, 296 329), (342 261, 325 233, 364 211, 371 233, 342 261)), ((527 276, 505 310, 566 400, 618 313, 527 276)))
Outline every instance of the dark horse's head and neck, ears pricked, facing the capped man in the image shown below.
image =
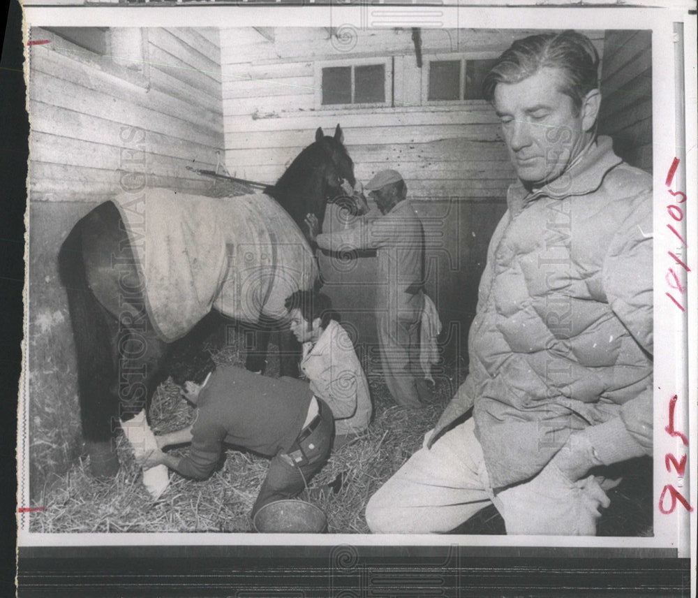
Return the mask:
POLYGON ((346 198, 342 183, 356 184, 354 163, 343 145, 339 124, 334 136, 315 131, 315 142, 306 147, 267 194, 276 199, 306 234, 306 214, 315 214, 320 226, 327 203, 346 198))

